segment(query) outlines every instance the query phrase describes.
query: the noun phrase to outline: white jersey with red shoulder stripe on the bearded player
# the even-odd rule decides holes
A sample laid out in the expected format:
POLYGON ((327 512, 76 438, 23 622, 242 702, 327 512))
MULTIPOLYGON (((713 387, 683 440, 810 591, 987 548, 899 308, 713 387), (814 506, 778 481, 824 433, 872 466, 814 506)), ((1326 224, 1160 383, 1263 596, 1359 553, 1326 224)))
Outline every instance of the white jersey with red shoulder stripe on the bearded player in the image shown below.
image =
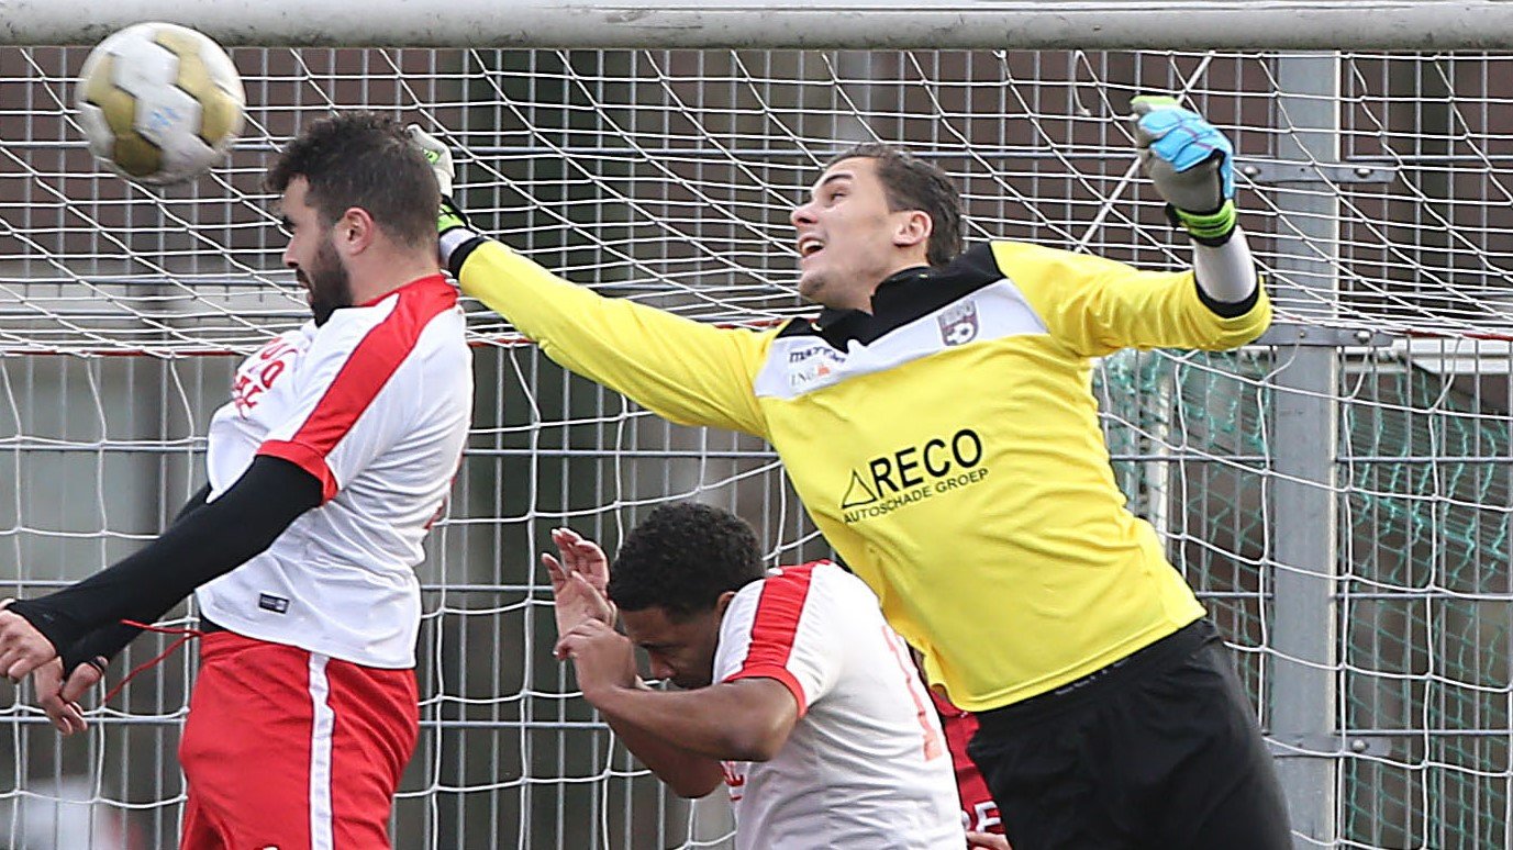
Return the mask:
POLYGON ((210 499, 272 455, 319 479, 322 504, 203 585, 206 617, 356 664, 415 665, 415 566, 472 413, 463 330, 457 289, 433 275, 280 334, 241 365, 210 420, 210 499))

